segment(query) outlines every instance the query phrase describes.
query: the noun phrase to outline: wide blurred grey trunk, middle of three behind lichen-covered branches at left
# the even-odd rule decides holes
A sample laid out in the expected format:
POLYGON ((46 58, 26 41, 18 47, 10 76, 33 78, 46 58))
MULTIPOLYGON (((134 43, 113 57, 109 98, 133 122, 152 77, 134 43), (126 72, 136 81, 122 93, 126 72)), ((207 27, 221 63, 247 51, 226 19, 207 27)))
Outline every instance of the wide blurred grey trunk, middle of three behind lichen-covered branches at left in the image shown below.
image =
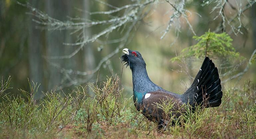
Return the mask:
MULTIPOLYGON (((61 21, 66 21, 67 16, 69 14, 70 3, 72 1, 69 0, 47 0, 46 9, 49 16, 56 18, 61 21)), ((70 40, 70 35, 67 34, 66 30, 54 30, 47 31, 46 33, 46 47, 47 47, 47 56, 62 56, 65 54, 65 46, 63 42, 67 42, 66 40, 70 40)), ((56 86, 61 85, 62 83, 62 74, 61 71, 56 67, 64 67, 64 59, 49 59, 51 64, 48 68, 49 73, 49 84, 48 89, 56 89, 56 86), (56 66, 53 66, 56 65, 56 66)))

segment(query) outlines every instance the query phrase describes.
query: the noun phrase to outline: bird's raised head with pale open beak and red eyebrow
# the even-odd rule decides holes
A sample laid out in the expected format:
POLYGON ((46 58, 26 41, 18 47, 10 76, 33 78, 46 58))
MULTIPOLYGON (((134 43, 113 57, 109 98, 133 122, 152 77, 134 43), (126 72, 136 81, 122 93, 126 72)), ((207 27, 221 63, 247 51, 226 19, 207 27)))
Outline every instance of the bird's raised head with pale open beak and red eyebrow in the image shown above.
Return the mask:
POLYGON ((133 69, 134 67, 146 67, 146 63, 144 59, 142 58, 140 52, 129 50, 127 48, 123 49, 123 52, 125 53, 122 55, 121 60, 122 62, 126 62, 124 65, 130 66, 130 69, 133 69))

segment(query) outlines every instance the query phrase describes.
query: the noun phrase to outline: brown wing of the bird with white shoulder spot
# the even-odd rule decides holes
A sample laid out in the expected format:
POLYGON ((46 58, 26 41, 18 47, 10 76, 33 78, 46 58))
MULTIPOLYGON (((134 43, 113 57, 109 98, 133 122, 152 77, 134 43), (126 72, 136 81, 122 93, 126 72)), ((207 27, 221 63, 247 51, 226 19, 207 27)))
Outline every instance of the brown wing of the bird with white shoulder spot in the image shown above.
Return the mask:
POLYGON ((156 121, 169 120, 171 117, 178 118, 186 112, 184 103, 177 95, 162 90, 148 92, 143 97, 142 106, 144 115, 148 119, 156 121))

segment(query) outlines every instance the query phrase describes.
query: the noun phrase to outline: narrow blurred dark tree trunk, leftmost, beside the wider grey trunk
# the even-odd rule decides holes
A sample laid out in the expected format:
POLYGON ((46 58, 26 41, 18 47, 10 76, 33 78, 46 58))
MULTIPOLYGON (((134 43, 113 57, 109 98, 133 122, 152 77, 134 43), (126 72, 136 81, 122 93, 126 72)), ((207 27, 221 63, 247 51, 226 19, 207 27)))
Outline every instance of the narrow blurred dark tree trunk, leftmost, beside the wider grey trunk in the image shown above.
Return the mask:
MULTIPOLYGON (((40 8, 42 1, 30 0, 30 3, 40 8)), ((32 16, 31 16, 32 17, 32 16)), ((35 17, 32 17, 35 18, 35 17)), ((29 78, 32 84, 34 83, 41 84, 38 88, 38 92, 35 94, 34 99, 39 99, 43 97, 43 64, 42 64, 42 32, 36 29, 36 23, 32 21, 32 18, 29 20, 29 78)))

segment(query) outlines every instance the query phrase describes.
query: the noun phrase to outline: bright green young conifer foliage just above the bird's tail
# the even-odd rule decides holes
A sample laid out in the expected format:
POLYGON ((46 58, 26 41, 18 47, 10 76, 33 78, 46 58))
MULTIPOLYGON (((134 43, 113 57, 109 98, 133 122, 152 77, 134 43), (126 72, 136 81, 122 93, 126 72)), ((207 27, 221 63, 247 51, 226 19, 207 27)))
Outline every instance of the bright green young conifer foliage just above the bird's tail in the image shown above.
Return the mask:
POLYGON ((223 58, 228 61, 244 60, 235 48, 232 46, 233 39, 227 33, 217 34, 214 32, 206 32, 201 36, 193 36, 198 42, 188 48, 182 50, 182 54, 174 57, 171 60, 175 61, 184 58, 204 58, 206 56, 211 58, 223 58))

